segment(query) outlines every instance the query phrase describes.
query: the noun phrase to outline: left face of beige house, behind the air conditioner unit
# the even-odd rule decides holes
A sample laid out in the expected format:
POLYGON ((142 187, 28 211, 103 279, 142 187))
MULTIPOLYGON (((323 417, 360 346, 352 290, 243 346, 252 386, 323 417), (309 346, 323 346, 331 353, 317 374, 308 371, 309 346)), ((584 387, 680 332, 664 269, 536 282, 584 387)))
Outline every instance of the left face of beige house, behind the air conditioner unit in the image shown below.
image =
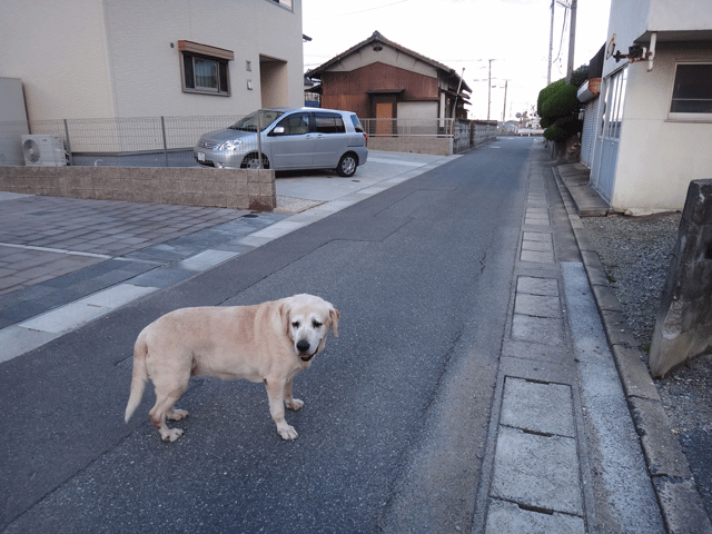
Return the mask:
POLYGON ((30 119, 115 116, 103 21, 98 0, 2 1, 0 76, 22 80, 30 119))

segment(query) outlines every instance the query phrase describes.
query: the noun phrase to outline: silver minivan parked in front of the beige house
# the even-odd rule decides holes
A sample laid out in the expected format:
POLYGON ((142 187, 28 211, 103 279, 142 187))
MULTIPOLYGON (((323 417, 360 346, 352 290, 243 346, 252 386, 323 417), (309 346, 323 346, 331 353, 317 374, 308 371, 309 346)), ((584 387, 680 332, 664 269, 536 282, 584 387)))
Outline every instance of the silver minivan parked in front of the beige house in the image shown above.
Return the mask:
POLYGON ((275 108, 255 111, 224 130, 200 137, 198 164, 217 168, 336 169, 349 177, 368 158, 368 136, 350 111, 275 108))

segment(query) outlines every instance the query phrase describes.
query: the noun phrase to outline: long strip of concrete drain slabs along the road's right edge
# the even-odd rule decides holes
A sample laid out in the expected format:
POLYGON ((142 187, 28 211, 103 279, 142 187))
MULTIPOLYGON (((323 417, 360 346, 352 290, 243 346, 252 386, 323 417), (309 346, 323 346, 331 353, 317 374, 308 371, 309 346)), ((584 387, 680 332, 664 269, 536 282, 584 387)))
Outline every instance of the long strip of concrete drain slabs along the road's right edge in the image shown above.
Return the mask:
POLYGON ((664 532, 551 165, 533 154, 473 532, 664 532))

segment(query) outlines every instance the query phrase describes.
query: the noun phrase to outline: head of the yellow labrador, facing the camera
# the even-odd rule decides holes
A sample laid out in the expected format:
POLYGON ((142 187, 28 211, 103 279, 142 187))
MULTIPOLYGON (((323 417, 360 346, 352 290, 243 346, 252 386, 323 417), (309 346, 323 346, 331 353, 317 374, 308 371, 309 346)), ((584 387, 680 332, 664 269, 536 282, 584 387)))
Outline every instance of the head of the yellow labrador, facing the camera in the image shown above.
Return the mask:
POLYGON ((326 300, 314 295, 295 295, 280 305, 287 336, 301 362, 308 363, 324 348, 329 328, 338 337, 340 314, 326 300))

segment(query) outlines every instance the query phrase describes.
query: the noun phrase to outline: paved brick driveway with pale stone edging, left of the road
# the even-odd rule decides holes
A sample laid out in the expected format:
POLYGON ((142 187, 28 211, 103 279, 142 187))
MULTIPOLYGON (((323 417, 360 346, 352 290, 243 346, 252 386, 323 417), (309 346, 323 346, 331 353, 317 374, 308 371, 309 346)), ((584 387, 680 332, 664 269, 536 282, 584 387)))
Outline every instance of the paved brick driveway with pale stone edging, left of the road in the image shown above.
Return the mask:
POLYGON ((0 192, 0 362, 456 157, 280 174, 274 212, 0 192))

